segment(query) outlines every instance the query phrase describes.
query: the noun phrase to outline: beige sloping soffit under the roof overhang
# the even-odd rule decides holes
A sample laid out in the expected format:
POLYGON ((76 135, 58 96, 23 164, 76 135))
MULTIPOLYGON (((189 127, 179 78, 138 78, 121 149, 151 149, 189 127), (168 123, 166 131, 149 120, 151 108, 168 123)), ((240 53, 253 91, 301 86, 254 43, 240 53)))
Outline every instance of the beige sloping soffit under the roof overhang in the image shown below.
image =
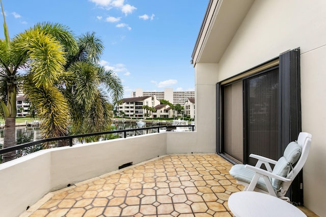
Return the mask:
POLYGON ((209 2, 193 52, 196 63, 219 63, 254 0, 209 2))

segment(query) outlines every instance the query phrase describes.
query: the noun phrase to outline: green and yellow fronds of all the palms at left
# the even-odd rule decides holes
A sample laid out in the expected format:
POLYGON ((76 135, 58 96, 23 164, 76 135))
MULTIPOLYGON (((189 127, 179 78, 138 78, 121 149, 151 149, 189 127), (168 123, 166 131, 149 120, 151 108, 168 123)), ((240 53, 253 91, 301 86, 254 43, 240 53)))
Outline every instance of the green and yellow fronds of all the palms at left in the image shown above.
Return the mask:
MULTIPOLYGON (((5 25, 5 34, 6 30, 5 25)), ((6 35, 5 41, 0 40, 0 91, 6 117, 16 116, 15 96, 21 85, 31 115, 37 113, 42 119, 44 138, 67 135, 70 124, 73 134, 110 130, 112 104, 122 98, 123 86, 113 71, 98 65, 103 49, 94 32, 75 38, 58 23, 37 23, 12 41, 6 35), (20 67, 28 72, 23 79, 17 74, 20 67)))

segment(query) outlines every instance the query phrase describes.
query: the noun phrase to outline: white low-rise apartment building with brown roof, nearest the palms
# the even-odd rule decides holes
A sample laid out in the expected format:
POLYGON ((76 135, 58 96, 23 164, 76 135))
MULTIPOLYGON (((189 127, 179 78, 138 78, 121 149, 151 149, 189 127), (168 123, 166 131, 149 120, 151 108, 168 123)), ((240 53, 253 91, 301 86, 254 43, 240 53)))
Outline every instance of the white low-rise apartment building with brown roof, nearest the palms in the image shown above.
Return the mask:
POLYGON ((143 106, 155 107, 159 101, 155 96, 133 97, 122 99, 122 104, 117 105, 117 113, 125 113, 127 117, 144 117, 146 113, 143 106))

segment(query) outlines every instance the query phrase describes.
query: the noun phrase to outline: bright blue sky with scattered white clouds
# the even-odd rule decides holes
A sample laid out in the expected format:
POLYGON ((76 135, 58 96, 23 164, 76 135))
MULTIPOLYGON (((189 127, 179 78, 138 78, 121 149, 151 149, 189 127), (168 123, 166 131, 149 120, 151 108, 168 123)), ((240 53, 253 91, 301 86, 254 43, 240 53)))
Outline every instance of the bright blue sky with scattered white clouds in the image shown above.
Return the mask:
MULTIPOLYGON (((38 22, 95 32, 104 43, 101 64, 130 91, 194 91, 191 54, 208 0, 3 0, 10 37, 38 22)), ((4 38, 0 28, 0 38, 4 38)))

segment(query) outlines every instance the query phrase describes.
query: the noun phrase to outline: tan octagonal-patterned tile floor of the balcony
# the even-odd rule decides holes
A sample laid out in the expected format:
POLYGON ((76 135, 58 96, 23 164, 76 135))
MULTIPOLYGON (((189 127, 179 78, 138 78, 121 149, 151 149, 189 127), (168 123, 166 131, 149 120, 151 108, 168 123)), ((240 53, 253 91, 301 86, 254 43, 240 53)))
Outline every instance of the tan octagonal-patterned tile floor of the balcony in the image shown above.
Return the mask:
POLYGON ((51 192, 21 217, 232 216, 228 198, 243 189, 216 154, 157 158, 51 192))

